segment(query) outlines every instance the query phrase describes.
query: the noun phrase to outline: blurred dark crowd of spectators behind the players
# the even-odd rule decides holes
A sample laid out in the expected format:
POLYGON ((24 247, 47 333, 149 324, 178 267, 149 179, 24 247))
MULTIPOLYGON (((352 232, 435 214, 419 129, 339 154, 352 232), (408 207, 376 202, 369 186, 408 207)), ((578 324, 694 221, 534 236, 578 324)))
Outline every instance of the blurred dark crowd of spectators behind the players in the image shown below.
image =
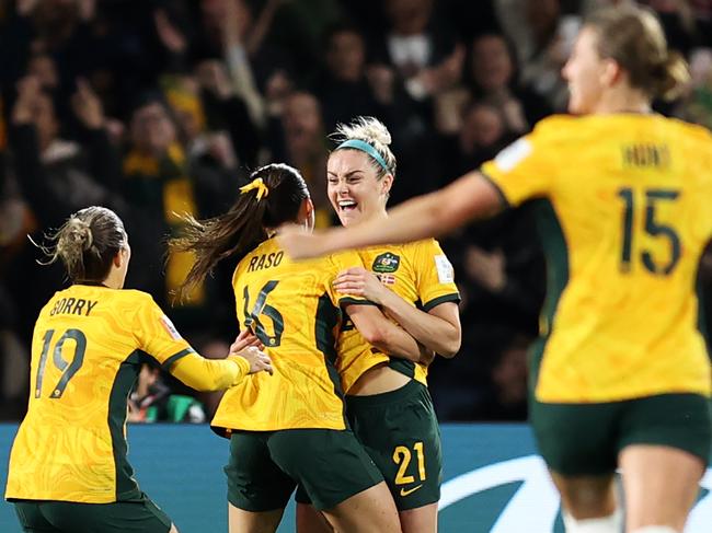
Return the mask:
MULTIPOLYGON (((111 207, 133 247, 127 287, 152 293, 203 355, 222 357, 237 334, 233 265, 173 301, 191 265, 166 256, 176 212, 220 212, 251 170, 286 162, 308 181, 318 223, 334 223, 328 135, 357 115, 392 132, 391 205, 441 187, 565 109, 561 68, 582 18, 608 3, 0 0, 0 418, 22 416, 34 320, 66 282, 58 265, 36 265, 27 234, 41 242, 71 212, 111 207)), ((712 127, 712 0, 644 3, 692 71, 684 96, 657 111, 712 127)), ((532 219, 506 212, 443 245, 463 343, 430 372, 440 419, 522 420, 546 289, 532 219)), ((147 368, 133 419, 199 421, 216 397, 197 401, 147 368)))

